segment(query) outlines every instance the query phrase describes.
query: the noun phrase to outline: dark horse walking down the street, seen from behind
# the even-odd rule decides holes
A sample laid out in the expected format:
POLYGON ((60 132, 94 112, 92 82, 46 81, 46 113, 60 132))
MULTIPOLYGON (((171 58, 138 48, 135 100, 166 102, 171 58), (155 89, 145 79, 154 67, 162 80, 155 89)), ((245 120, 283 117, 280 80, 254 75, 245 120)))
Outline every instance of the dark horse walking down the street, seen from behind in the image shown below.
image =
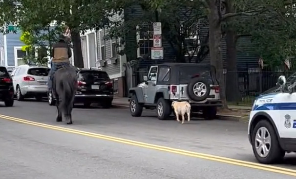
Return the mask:
POLYGON ((57 122, 62 122, 66 118, 67 125, 72 123, 72 109, 75 93, 77 90, 77 71, 73 67, 64 66, 58 69, 53 76, 53 95, 56 98, 58 109, 57 122))

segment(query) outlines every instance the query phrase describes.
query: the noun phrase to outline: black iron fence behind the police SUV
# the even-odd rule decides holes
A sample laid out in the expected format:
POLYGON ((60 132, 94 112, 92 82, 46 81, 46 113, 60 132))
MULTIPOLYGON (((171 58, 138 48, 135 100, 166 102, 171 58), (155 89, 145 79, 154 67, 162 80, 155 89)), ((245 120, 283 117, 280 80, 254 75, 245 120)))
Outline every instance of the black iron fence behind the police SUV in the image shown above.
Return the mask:
MULTIPOLYGON (((264 93, 265 91, 272 91, 276 89, 277 78, 280 75, 285 75, 288 78, 295 71, 282 71, 282 70, 261 70, 259 68, 249 68, 245 70, 238 70, 237 72, 230 72, 231 75, 227 75, 227 72, 224 72, 225 85, 229 85, 227 83, 227 78, 232 78, 231 80, 238 81, 237 88, 238 93, 235 93, 235 89, 231 92, 226 91, 226 98, 229 102, 234 104, 243 104, 243 105, 252 105, 255 98, 264 93), (230 100, 231 99, 231 100, 230 100)), ((226 88, 227 89, 227 88, 226 88)), ((229 89, 229 88, 228 88, 229 89)))

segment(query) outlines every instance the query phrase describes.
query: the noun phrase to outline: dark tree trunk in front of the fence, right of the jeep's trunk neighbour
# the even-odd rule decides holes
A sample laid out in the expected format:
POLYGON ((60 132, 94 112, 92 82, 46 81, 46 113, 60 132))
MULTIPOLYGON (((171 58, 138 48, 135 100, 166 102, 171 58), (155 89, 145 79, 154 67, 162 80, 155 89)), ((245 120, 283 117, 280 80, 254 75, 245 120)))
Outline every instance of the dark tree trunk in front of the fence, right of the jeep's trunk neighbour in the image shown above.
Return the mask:
MULTIPOLYGON (((225 4, 226 13, 235 13, 233 0, 227 0, 225 4)), ((236 64, 236 33, 229 26, 226 31, 226 96, 231 102, 239 102, 240 99, 236 64)))

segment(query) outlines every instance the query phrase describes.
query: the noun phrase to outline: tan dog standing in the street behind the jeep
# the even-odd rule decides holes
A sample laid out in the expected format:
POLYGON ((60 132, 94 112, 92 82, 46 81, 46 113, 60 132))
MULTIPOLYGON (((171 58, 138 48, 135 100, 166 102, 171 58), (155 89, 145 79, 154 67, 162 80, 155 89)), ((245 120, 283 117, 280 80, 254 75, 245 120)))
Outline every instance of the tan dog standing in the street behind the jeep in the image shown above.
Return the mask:
POLYGON ((188 121, 190 121, 191 105, 187 101, 182 101, 182 102, 173 101, 171 103, 171 107, 173 107, 173 109, 175 111, 178 122, 180 122, 179 115, 182 115, 182 123, 181 124, 185 123, 185 114, 186 113, 188 116, 188 121))

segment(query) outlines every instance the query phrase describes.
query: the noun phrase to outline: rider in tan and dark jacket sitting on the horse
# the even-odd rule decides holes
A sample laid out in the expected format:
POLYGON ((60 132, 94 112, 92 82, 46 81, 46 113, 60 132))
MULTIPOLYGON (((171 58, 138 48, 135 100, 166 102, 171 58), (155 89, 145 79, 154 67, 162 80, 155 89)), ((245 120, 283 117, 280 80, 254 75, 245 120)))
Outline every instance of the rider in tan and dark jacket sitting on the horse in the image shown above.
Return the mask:
POLYGON ((59 36, 59 42, 52 47, 52 61, 51 69, 48 78, 48 91, 52 91, 52 81, 55 72, 64 66, 70 66, 69 58, 72 56, 71 49, 66 42, 66 37, 61 34, 59 36))

